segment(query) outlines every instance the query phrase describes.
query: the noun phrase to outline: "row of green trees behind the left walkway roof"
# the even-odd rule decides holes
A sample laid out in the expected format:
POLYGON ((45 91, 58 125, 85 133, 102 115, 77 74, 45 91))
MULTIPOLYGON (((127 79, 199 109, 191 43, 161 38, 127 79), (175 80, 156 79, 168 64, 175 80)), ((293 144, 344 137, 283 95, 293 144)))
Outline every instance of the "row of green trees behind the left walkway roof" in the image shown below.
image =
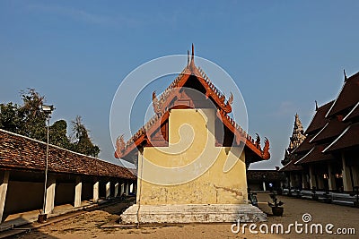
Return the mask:
MULTIPOLYGON (((0 104, 0 128, 16 132, 39 141, 47 141, 47 115, 40 106, 44 96, 34 89, 22 91, 22 105, 0 104)), ((76 116, 73 124, 73 137, 66 134, 65 120, 58 120, 49 126, 49 143, 64 149, 70 149, 92 157, 98 157, 100 148, 92 143, 89 131, 84 126, 80 116, 76 116)))

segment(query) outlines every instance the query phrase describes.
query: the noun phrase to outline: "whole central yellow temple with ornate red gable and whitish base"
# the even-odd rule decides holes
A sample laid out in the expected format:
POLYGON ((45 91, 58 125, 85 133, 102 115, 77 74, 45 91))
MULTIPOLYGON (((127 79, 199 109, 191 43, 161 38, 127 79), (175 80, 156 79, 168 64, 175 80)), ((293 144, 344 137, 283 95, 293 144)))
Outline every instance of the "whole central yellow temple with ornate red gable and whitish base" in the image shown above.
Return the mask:
POLYGON ((137 166, 136 204, 123 223, 266 219, 248 202, 246 170, 270 158, 269 141, 261 146, 234 122, 232 103, 195 65, 192 46, 169 88, 153 92, 153 118, 126 143, 118 138, 115 157, 137 166))

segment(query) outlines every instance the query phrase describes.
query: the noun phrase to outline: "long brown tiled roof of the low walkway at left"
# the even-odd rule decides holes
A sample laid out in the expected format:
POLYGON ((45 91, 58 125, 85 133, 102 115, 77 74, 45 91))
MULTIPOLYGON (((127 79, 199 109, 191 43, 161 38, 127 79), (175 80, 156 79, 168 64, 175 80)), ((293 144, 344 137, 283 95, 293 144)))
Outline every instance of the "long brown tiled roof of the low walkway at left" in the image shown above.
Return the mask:
MULTIPOLYGON (((0 167, 43 171, 46 146, 45 142, 0 130, 0 167)), ((136 179, 126 167, 54 145, 49 145, 48 148, 48 172, 136 179)))

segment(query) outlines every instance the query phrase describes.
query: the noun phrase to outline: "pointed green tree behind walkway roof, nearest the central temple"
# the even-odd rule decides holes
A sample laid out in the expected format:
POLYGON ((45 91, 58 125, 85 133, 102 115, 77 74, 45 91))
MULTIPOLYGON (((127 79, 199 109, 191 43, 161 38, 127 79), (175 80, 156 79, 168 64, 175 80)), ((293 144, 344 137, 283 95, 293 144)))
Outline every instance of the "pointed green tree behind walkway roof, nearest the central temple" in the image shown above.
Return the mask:
POLYGON ((92 157, 98 157, 101 150, 97 145, 92 143, 92 140, 89 136, 89 131, 84 126, 81 116, 77 115, 72 124, 74 134, 74 151, 83 153, 85 155, 90 155, 92 157))

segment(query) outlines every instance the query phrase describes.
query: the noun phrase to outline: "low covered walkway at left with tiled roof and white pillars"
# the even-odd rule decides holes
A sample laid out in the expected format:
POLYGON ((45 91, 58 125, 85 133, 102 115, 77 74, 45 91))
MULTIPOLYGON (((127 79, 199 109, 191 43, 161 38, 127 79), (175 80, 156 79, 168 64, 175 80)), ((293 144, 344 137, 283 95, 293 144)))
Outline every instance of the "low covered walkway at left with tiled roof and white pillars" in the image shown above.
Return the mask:
MULTIPOLYGON (((0 130, 0 218, 35 211, 44 205, 46 143, 0 130)), ((83 208, 136 192, 136 175, 110 164, 50 145, 45 214, 61 207, 83 208)), ((27 215, 27 214, 26 214, 27 215)))

